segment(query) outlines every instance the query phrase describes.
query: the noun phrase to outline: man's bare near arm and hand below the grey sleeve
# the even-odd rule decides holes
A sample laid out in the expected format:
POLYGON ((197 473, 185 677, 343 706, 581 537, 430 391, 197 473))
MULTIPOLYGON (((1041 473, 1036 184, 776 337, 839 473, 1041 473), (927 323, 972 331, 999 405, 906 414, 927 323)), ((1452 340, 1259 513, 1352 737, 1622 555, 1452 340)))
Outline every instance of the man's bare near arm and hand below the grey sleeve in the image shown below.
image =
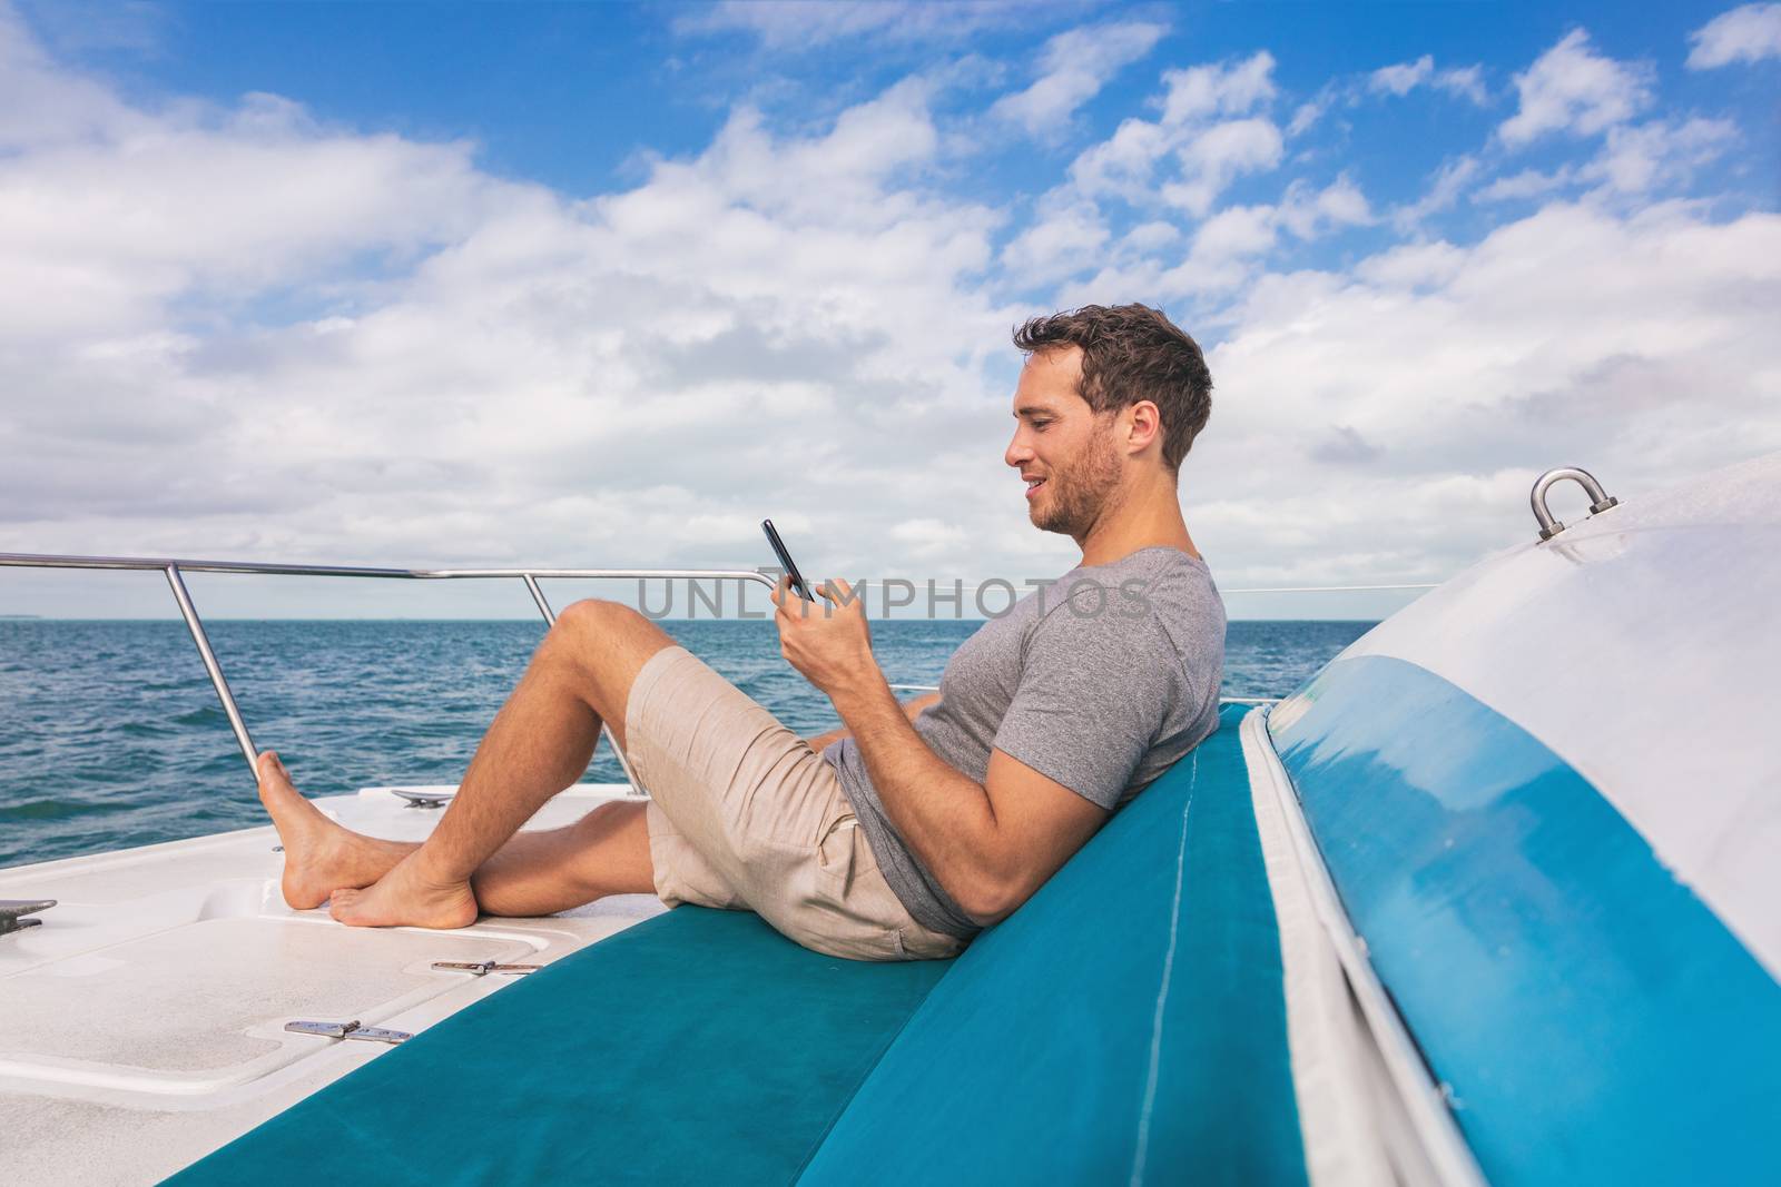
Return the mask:
POLYGON ((834 701, 898 835, 974 922, 1012 915, 1106 822, 1104 808, 1001 751, 983 783, 947 765, 890 694, 860 602, 826 612, 791 602, 782 585, 782 653, 834 701))

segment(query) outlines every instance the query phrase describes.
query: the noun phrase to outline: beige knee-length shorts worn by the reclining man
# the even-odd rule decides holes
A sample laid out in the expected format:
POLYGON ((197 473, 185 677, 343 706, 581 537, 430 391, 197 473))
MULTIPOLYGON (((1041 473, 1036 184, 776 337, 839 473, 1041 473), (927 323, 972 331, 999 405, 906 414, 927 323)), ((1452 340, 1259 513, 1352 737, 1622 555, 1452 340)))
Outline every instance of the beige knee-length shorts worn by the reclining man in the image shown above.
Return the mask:
POLYGON ((807 949, 857 961, 956 956, 878 870, 835 769, 686 648, 650 657, 625 705, 650 794, 655 893, 757 911, 807 949))

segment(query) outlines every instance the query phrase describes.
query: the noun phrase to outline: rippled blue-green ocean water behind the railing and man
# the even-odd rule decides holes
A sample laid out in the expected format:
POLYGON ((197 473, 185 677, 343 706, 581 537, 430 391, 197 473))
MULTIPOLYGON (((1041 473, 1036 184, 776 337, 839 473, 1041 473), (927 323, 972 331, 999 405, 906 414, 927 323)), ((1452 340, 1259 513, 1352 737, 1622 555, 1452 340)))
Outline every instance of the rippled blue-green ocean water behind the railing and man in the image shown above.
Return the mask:
MULTIPOLYGON (((1371 623, 1231 623, 1225 696, 1286 696, 1371 623)), ((892 683, 939 683, 971 621, 878 621, 892 683)), ((837 723, 771 623, 664 621, 800 733, 837 723)), ((210 642, 262 749, 310 795, 456 783, 543 623, 216 621, 210 642)), ((901 694, 901 696, 914 696, 901 694)), ((588 778, 623 781, 602 744, 588 778)), ((0 621, 0 867, 265 820, 180 621, 0 621)))

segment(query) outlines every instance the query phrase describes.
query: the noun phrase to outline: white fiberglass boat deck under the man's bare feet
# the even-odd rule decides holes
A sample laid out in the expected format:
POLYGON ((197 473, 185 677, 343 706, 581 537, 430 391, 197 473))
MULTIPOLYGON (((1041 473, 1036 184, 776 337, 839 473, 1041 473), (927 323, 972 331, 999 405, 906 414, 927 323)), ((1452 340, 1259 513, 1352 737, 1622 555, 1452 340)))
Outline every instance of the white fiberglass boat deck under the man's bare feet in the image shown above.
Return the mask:
MULTIPOLYGON (((581 785, 527 828, 620 797, 581 785)), ((397 840, 440 819, 386 788, 315 803, 397 840)), ((388 1050, 287 1021, 419 1032, 511 982, 435 961, 545 965, 663 909, 618 895, 449 933, 351 929, 285 906, 276 844, 258 828, 0 870, 0 899, 59 900, 41 927, 0 936, 7 1182, 155 1182, 388 1050)), ((474 1073, 443 1087, 477 1091, 474 1073)))

